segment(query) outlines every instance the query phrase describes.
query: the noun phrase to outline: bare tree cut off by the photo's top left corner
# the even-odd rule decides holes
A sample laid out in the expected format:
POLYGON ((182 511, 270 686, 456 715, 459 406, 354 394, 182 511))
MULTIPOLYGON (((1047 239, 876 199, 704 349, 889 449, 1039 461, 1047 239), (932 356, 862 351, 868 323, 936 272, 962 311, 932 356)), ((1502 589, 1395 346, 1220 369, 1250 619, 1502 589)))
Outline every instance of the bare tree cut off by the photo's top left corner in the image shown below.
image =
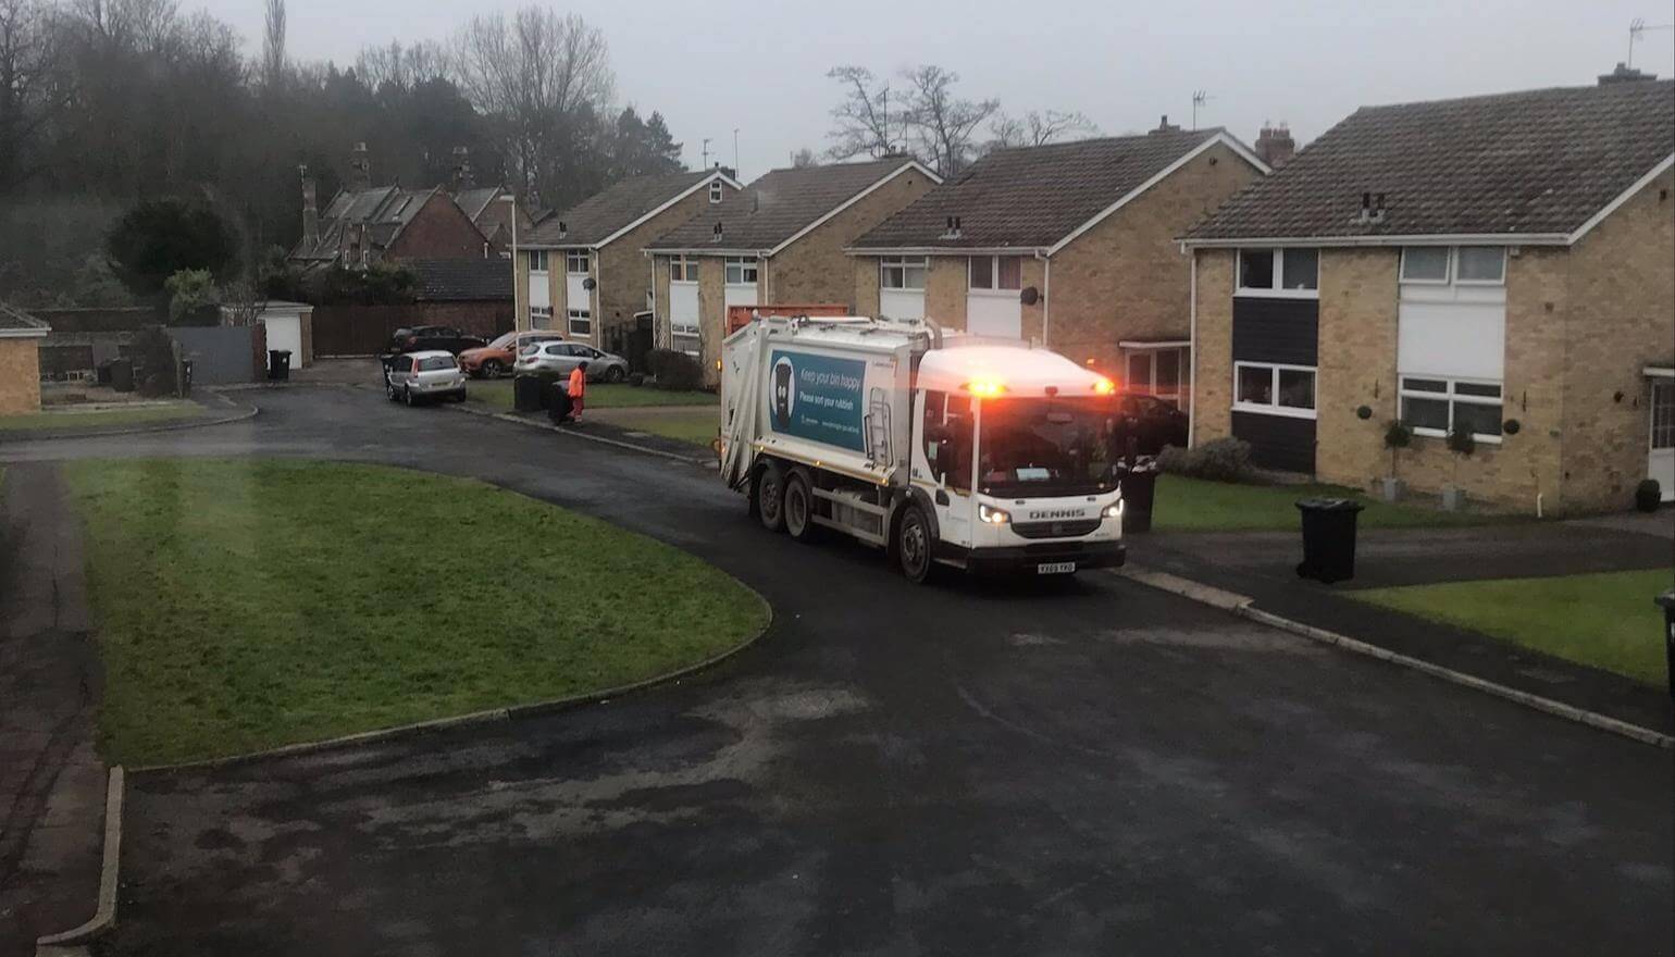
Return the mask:
POLYGON ((0 0, 0 194, 40 163, 32 151, 67 99, 57 62, 50 10, 37 0, 0 0))

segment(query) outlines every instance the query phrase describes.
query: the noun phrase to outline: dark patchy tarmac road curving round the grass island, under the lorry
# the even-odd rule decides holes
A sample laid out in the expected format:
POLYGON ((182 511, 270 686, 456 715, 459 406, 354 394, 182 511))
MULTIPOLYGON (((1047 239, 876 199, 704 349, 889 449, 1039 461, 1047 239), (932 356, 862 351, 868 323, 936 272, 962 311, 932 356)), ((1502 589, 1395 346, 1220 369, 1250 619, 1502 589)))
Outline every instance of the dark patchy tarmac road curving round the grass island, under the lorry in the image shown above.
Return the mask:
MULTIPOLYGON (((7 446, 462 474, 776 608, 678 685, 131 778, 112 954, 1660 954, 1665 751, 1112 575, 916 588, 714 471, 352 389, 7 446)), ((1139 561, 1161 555, 1151 540, 1139 561)), ((647 582, 648 598, 655 582, 647 582)))

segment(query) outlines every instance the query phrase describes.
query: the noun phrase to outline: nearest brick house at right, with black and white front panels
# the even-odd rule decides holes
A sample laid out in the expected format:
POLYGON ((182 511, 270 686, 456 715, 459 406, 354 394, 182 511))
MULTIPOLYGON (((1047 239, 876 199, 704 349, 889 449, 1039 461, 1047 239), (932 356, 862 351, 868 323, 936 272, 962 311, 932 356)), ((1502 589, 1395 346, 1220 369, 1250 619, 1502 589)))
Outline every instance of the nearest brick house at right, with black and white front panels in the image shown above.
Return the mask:
POLYGON ((1194 441, 1367 486, 1399 419, 1419 491, 1675 496, 1672 163, 1668 80, 1357 111, 1186 233, 1194 441))

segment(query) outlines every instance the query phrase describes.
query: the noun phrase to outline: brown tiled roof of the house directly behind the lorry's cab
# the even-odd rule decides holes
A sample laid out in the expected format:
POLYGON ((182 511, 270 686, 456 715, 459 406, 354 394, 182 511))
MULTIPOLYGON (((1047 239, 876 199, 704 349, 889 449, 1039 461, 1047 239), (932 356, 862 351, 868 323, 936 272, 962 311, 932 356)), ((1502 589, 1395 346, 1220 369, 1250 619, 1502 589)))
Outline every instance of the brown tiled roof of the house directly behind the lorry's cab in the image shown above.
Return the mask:
POLYGON ((884 220, 856 248, 1037 248, 1069 236, 1219 129, 997 149, 884 220), (948 218, 960 236, 943 238, 948 218))

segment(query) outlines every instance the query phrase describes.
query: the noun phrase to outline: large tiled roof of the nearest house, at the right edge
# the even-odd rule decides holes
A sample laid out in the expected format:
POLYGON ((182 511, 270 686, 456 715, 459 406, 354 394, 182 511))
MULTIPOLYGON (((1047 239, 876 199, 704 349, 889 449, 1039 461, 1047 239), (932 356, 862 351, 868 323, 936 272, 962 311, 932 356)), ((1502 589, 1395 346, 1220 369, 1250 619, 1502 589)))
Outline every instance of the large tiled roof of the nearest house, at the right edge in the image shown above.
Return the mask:
POLYGON ((1568 235, 1672 151, 1675 80, 1363 107, 1188 238, 1568 235))

